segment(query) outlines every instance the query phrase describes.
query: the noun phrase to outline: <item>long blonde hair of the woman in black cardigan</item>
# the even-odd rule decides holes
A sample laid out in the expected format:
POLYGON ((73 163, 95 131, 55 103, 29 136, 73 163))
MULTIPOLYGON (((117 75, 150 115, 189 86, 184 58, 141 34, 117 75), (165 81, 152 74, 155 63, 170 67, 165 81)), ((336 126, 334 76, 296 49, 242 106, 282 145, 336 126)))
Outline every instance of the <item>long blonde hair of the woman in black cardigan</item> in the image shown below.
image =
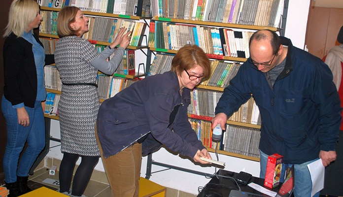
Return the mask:
POLYGON ((12 32, 21 37, 28 30, 29 24, 34 21, 38 12, 39 5, 34 0, 13 0, 3 37, 7 37, 12 32))

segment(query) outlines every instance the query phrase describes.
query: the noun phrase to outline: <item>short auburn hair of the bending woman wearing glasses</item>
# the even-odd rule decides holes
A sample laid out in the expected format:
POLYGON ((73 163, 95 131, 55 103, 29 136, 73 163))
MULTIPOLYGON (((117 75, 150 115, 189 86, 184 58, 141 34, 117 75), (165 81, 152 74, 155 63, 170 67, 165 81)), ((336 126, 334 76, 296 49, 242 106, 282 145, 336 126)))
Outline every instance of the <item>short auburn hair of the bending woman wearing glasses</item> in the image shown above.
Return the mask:
POLYGON ((199 65, 204 69, 203 78, 211 73, 211 66, 206 53, 197 45, 186 44, 181 47, 171 61, 171 71, 179 75, 184 69, 188 70, 199 65))

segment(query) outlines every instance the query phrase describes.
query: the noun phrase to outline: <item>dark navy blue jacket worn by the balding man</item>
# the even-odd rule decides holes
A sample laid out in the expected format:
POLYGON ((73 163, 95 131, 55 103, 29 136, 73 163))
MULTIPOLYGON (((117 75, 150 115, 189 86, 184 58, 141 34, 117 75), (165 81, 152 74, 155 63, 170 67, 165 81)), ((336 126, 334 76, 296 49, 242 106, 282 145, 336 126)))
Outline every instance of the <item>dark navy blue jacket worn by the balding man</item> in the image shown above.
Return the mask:
POLYGON ((285 163, 302 164, 318 158, 320 150, 335 150, 342 109, 329 67, 290 39, 281 40, 288 52, 274 87, 245 62, 224 89, 215 113, 231 116, 252 94, 262 120, 260 150, 283 155, 285 163))

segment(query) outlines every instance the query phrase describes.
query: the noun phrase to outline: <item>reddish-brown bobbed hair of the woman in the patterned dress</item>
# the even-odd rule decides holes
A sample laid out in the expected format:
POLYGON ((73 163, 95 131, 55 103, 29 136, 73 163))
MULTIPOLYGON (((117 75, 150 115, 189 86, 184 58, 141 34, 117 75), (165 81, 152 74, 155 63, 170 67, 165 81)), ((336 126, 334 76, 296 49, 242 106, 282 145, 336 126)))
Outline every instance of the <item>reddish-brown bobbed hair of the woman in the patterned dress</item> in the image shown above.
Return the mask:
POLYGON ((70 24, 75 22, 76 14, 80 8, 75 6, 63 7, 57 17, 57 33, 60 38, 70 35, 80 35, 80 30, 73 30, 70 24))

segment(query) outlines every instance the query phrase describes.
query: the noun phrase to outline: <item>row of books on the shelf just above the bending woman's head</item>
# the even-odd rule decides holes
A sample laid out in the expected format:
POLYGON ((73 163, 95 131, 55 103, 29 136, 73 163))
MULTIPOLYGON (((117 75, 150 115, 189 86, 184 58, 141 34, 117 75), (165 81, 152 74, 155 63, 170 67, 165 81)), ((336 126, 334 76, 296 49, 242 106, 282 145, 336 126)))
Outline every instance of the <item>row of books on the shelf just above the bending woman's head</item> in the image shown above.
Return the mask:
POLYGON ((226 28, 152 21, 148 46, 179 50, 185 44, 196 44, 207 54, 248 58, 252 34, 253 32, 226 28))

